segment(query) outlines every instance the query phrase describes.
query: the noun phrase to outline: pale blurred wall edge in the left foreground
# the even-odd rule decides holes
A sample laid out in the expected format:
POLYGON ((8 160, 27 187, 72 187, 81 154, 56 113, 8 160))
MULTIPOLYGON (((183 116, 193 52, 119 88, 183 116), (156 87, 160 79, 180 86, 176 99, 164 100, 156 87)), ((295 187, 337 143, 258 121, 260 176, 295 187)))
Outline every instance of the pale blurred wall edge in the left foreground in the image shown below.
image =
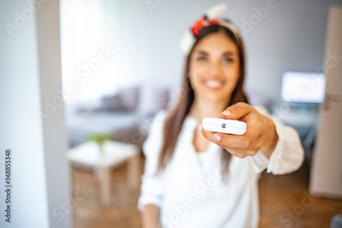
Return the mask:
POLYGON ((58 5, 50 0, 34 13, 25 0, 0 1, 0 227, 72 225, 72 214, 53 214, 70 199, 64 110, 43 124, 36 116, 61 87, 58 5), (18 25, 12 36, 6 23, 18 25), (5 149, 12 149, 11 223, 4 217, 5 149))

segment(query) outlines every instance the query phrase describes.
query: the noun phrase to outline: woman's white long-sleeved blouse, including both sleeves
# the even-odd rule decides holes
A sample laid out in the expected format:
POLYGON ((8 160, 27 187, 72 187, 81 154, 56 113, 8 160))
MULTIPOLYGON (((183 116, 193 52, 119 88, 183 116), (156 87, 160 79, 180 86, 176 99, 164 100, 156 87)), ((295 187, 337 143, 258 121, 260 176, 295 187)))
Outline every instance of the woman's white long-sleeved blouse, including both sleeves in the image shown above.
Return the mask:
POLYGON ((244 158, 232 155, 224 179, 221 147, 209 142, 207 151, 196 153, 192 141, 198 121, 192 116, 185 117, 172 160, 155 175, 168 114, 159 112, 143 146, 146 163, 138 210, 146 204, 157 205, 163 228, 258 227, 261 172, 267 168, 267 173, 282 175, 298 170, 304 151, 294 129, 269 116, 265 107, 255 108, 274 121, 279 136, 276 149, 269 159, 261 152, 244 158))

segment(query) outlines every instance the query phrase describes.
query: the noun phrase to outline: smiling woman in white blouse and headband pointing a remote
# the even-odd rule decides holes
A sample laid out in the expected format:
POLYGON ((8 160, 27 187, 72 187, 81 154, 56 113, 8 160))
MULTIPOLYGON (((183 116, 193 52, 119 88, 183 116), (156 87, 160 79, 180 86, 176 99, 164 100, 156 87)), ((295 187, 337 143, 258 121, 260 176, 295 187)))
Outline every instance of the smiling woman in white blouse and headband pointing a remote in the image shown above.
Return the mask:
POLYGON ((183 42, 183 96, 155 117, 144 143, 137 205, 143 227, 257 227, 259 175, 300 168, 300 138, 264 107, 248 105, 244 47, 232 23, 207 13, 190 35, 183 42), (247 131, 205 131, 205 117, 244 121, 247 131))

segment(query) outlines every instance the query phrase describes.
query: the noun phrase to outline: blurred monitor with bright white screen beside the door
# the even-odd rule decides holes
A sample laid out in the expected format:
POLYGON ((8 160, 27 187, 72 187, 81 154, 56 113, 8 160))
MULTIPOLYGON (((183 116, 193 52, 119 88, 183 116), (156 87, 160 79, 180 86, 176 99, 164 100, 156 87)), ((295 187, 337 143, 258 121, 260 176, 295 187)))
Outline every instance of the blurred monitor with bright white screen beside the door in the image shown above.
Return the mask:
POLYGON ((282 75, 281 99, 294 103, 324 101, 326 77, 324 73, 287 71, 282 75))

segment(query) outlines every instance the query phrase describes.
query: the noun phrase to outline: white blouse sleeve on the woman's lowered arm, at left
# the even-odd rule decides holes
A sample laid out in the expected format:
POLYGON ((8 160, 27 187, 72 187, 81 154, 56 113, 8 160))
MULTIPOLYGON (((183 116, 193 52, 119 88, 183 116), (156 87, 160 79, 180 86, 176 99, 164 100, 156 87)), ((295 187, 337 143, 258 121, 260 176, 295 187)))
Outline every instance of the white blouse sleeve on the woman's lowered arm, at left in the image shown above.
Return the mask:
POLYGON ((147 204, 154 204, 159 207, 161 202, 161 181, 157 174, 159 152, 163 142, 163 123, 166 112, 156 114, 150 124, 148 137, 143 144, 143 152, 146 157, 144 175, 142 175, 142 186, 137 209, 142 211, 147 204))

